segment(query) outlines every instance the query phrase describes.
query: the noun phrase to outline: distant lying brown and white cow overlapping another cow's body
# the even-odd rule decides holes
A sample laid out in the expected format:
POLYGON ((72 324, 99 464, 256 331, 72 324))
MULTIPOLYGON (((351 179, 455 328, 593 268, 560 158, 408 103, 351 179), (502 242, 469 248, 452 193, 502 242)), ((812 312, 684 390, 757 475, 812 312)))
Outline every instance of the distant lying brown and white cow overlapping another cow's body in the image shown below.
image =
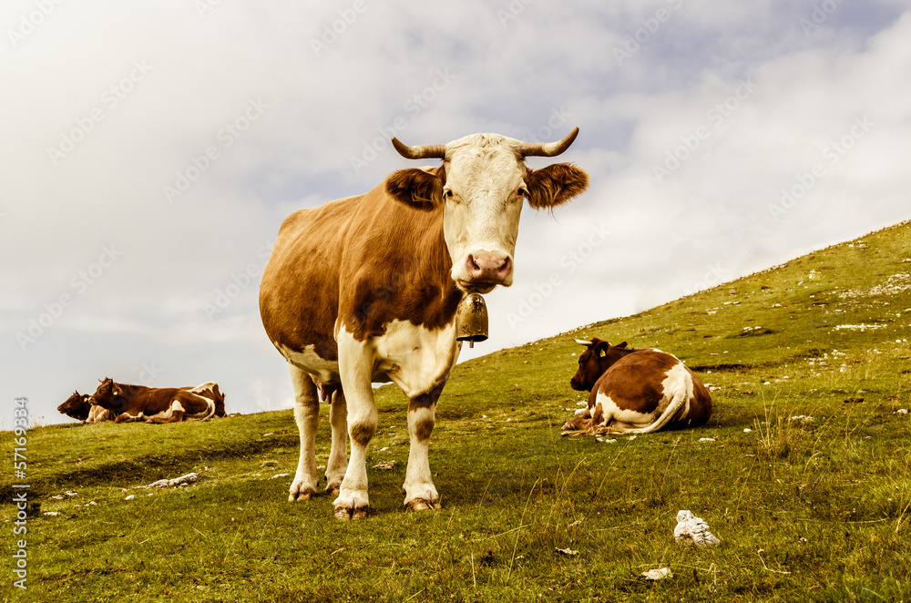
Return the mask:
POLYGON ((212 382, 196 387, 158 388, 115 383, 106 378, 90 403, 117 414, 117 423, 178 423, 225 415, 224 395, 218 383, 212 382))

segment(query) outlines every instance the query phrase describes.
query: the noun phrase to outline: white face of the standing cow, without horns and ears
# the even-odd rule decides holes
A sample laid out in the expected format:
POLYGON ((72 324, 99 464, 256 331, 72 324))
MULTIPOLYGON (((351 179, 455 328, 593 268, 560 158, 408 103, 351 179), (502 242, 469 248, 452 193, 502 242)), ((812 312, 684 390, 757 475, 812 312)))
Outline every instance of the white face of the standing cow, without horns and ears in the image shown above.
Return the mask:
POLYGON ((443 229, 452 279, 463 291, 512 284, 527 169, 509 140, 490 144, 475 135, 446 145, 443 229))

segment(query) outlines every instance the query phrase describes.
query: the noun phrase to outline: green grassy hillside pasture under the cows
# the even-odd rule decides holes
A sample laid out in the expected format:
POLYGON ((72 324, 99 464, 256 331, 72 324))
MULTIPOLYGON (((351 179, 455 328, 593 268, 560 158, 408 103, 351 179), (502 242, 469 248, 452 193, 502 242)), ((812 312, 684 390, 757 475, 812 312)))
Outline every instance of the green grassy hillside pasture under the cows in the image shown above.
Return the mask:
MULTIPOLYGON (((28 434, 32 496, 41 513, 59 515, 29 519, 29 588, 11 588, 9 553, 0 595, 911 600, 911 416, 896 414, 911 407, 911 344, 903 341, 911 278, 895 276, 911 273, 909 235, 909 225, 898 225, 865 237, 866 248, 836 245, 649 312, 460 364, 431 444, 439 512, 402 511, 406 404, 392 387, 377 394, 369 462, 396 465, 368 469, 372 513, 361 522, 333 521, 330 497, 286 502, 291 477, 271 476, 296 466, 288 411, 205 424, 37 428, 28 434), (873 326, 836 329, 845 324, 873 326), (571 336, 595 335, 685 360, 713 388, 710 423, 614 443, 561 437, 585 399, 568 387, 581 349, 571 336), (852 398, 863 402, 845 402, 852 398), (151 496, 136 488, 189 471, 202 474, 197 485, 151 496), (78 494, 49 497, 65 490, 78 494), (680 509, 703 517, 722 544, 677 545, 680 509), (673 576, 640 577, 655 567, 673 576)), ((323 408, 321 463, 327 416, 323 408)), ((11 434, 0 441, 13 446, 11 434)), ((4 487, 9 519, 15 508, 4 487)))

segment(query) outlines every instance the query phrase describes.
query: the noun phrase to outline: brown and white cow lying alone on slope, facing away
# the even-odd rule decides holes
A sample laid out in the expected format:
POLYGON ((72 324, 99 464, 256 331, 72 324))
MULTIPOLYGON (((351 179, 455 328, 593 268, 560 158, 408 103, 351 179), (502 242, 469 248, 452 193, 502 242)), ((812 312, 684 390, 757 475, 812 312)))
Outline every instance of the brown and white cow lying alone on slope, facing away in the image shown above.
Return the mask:
POLYGON ((589 391, 589 406, 564 430, 648 434, 709 421, 711 396, 699 377, 670 353, 634 350, 627 343, 576 340, 586 346, 569 381, 589 391))

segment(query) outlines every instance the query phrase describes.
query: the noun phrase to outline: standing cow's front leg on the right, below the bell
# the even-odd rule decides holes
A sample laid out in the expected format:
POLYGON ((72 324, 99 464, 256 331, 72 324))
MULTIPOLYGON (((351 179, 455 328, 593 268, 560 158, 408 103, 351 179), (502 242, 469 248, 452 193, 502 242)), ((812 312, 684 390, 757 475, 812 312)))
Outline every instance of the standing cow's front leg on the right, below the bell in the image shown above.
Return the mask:
POLYGON ((404 507, 410 511, 440 508, 434 477, 430 473, 430 434, 436 422, 436 401, 445 383, 437 385, 430 393, 412 398, 408 403, 408 434, 411 447, 408 451, 408 469, 405 472, 404 507))

